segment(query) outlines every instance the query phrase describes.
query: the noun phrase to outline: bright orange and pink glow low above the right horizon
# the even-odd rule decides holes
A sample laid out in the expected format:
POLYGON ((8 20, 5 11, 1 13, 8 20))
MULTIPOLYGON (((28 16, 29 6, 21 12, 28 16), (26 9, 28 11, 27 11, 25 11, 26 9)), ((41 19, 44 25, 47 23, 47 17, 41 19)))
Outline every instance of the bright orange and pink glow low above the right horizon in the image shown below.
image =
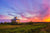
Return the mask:
POLYGON ((30 19, 27 19, 27 20, 22 20, 23 22, 50 22, 50 17, 47 16, 47 17, 44 17, 42 20, 40 19, 40 17, 35 17, 35 18, 30 18, 30 19))

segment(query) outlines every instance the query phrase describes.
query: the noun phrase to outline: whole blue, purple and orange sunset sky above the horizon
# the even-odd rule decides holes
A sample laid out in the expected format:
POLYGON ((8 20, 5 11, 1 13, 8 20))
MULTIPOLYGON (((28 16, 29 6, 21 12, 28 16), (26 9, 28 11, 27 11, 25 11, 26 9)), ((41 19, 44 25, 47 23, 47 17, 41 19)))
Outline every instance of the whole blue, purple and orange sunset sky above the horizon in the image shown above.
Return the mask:
POLYGON ((50 0, 0 0, 0 22, 14 17, 21 22, 50 22, 50 0))

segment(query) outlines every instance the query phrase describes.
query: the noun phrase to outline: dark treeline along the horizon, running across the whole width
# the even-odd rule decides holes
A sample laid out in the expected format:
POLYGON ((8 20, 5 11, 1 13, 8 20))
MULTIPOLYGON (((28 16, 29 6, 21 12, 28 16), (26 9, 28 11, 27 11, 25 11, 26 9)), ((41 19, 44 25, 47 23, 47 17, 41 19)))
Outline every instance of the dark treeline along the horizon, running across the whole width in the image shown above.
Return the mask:
POLYGON ((26 22, 26 23, 18 23, 18 22, 4 22, 4 23, 0 23, 0 24, 9 24, 9 25, 23 25, 23 24, 25 24, 25 25, 27 25, 27 24, 30 24, 30 25, 32 25, 32 24, 35 24, 35 23, 41 23, 41 24, 45 24, 45 23, 50 23, 50 22, 32 22, 32 21, 30 21, 30 22, 26 22))

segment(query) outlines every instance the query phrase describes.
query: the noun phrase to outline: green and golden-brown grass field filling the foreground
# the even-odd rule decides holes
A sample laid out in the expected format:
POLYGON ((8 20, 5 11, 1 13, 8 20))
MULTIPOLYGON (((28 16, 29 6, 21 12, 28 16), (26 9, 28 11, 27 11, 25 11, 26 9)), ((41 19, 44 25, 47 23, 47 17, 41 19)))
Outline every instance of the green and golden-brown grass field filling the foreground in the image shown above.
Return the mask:
POLYGON ((48 33, 47 31, 42 31, 46 28, 47 24, 36 23, 32 25, 0 25, 0 33, 48 33))

